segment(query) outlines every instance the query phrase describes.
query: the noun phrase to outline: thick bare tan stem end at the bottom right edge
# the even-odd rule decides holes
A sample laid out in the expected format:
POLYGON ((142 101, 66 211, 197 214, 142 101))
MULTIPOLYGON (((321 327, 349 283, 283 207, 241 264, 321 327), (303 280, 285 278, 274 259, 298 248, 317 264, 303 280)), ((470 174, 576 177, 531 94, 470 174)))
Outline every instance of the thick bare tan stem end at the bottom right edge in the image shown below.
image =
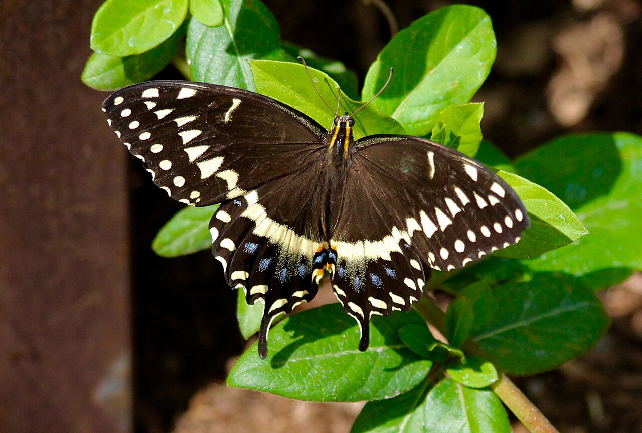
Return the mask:
POLYGON ((502 374, 499 380, 490 386, 490 389, 517 416, 517 419, 530 433, 559 433, 507 375, 502 374))

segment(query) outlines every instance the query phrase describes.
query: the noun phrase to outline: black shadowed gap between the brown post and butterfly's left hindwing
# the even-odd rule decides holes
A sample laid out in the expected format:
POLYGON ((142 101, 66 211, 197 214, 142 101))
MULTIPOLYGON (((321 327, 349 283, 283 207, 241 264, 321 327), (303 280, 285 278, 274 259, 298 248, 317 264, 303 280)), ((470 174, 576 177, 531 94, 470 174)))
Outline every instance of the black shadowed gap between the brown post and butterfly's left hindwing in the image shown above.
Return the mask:
POLYGON ((209 250, 173 259, 152 251, 156 233, 182 205, 137 161, 130 167, 135 428, 169 431, 199 389, 225 380, 227 360, 244 342, 236 291, 209 250))

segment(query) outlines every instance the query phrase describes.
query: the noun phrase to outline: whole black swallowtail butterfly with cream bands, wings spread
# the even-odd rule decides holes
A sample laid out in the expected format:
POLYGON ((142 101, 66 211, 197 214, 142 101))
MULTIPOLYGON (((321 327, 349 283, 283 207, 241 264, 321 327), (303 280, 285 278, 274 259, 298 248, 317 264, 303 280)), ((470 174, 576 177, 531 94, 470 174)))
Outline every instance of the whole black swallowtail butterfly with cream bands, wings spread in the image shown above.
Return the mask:
POLYGON ((472 158, 406 135, 352 139, 247 90, 189 81, 126 87, 108 124, 153 181, 187 205, 221 203, 209 223, 227 282, 265 302, 259 355, 280 314, 329 273, 369 344, 372 314, 409 310, 429 269, 448 271, 519 241, 517 194, 472 158))

